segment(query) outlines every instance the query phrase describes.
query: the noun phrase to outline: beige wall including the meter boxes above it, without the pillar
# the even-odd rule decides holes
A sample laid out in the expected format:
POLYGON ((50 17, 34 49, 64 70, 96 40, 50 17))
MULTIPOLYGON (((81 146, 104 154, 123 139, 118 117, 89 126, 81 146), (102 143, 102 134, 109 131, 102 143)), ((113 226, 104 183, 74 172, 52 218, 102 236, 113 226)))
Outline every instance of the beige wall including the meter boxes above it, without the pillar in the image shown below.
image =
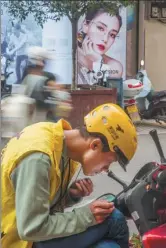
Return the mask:
POLYGON ((166 1, 145 2, 145 65, 156 90, 166 90, 166 1))

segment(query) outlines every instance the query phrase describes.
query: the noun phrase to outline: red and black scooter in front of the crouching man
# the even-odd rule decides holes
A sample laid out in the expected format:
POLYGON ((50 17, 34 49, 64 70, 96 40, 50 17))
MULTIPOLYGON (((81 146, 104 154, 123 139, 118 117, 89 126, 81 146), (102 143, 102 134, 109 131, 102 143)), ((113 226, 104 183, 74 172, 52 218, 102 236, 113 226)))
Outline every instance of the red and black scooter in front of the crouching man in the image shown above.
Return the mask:
MULTIPOLYGON (((123 191, 117 195, 107 193, 97 199, 114 202, 115 207, 126 218, 134 221, 143 248, 165 248, 166 158, 157 131, 150 131, 150 135, 157 147, 161 163, 150 162, 145 164, 129 185, 119 179, 112 171, 109 171, 108 176, 121 184, 123 191)), ((94 199, 88 203, 92 201, 94 199)), ((87 204, 87 202, 84 204, 87 204)))

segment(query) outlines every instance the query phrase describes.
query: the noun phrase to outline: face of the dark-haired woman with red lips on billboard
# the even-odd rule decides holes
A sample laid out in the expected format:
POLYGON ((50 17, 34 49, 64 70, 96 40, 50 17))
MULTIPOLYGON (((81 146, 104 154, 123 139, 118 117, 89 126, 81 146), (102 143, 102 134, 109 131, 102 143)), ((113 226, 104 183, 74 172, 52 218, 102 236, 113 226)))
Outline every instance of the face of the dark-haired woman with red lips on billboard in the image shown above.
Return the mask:
POLYGON ((90 22, 83 24, 83 32, 93 43, 93 50, 100 55, 105 54, 115 41, 120 24, 117 16, 108 13, 96 15, 90 22))

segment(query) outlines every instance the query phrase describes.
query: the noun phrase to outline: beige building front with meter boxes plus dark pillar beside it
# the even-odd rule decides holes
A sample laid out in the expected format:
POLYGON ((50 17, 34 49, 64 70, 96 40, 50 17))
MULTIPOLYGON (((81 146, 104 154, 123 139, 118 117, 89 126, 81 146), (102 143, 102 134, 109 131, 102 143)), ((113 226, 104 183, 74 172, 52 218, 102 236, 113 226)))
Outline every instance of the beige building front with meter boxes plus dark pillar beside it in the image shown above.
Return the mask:
POLYGON ((166 90, 166 1, 139 1, 134 16, 127 32, 127 78, 143 59, 154 89, 166 90))

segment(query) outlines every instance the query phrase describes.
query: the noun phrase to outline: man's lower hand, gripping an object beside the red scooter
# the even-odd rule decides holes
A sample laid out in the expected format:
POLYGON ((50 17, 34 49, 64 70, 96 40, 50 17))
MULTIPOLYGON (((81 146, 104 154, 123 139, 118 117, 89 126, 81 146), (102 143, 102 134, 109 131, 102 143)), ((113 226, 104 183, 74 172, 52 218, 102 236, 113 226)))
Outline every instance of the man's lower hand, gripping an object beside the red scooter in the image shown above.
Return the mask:
POLYGON ((90 204, 90 210, 97 224, 102 223, 114 209, 114 203, 105 200, 96 200, 90 204))

